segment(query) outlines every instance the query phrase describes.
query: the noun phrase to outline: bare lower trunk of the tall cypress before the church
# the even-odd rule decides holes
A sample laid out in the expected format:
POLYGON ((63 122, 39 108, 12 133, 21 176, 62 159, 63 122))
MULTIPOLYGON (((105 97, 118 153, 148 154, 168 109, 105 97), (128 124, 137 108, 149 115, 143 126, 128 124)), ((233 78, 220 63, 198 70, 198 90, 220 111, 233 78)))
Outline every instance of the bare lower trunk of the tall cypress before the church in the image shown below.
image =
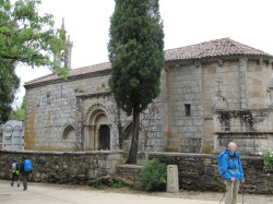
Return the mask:
POLYGON ((138 146, 139 146, 139 133, 140 133, 140 112, 133 110, 133 133, 131 148, 129 152, 129 157, 126 164, 136 164, 138 157, 138 146))

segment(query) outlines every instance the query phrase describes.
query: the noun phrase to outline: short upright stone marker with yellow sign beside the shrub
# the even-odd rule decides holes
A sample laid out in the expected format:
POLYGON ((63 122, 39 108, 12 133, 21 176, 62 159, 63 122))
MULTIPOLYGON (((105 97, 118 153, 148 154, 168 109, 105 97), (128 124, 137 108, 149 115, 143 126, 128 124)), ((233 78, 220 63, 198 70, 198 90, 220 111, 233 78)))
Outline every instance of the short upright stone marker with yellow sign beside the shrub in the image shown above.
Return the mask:
POLYGON ((179 192, 178 167, 177 165, 167 166, 167 192, 179 192))

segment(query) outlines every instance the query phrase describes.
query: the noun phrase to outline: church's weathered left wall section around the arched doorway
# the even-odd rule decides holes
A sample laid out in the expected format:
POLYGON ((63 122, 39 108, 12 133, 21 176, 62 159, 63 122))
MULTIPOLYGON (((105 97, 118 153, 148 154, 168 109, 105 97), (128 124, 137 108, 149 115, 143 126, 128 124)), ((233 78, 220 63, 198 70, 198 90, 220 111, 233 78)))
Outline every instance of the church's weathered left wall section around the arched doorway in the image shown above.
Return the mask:
MULTIPOLYGON (((87 147, 93 111, 105 111, 110 127, 110 149, 118 149, 118 115, 116 103, 109 92, 109 73, 63 81, 26 88, 25 111, 25 149, 37 151, 75 151, 80 142, 82 149, 87 147), (75 139, 63 140, 67 127, 75 130, 75 139)), ((163 83, 164 84, 164 83, 163 83)), ((162 85, 164 88, 164 85, 162 85)), ((140 142, 140 151, 162 151, 165 146, 164 129, 164 97, 156 98, 141 115, 141 129, 145 140, 140 142)), ((132 122, 123 111, 120 115, 124 129, 132 122)), ((94 146, 94 145, 92 145, 94 146)))

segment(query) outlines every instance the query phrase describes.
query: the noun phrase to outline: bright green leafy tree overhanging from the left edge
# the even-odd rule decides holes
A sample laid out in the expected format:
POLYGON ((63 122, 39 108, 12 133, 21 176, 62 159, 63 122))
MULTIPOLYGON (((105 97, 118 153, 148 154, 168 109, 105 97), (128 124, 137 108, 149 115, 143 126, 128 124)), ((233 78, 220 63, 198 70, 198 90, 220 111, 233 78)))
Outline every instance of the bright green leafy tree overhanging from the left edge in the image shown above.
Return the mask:
MULTIPOLYGON (((17 0, 11 4, 10 0, 0 0, 0 123, 8 119, 19 87, 16 63, 52 69, 52 56, 60 57, 64 49, 63 31, 54 28, 52 15, 38 14, 40 3, 40 0, 17 0)), ((56 72, 67 74, 63 68, 56 68, 56 72)))

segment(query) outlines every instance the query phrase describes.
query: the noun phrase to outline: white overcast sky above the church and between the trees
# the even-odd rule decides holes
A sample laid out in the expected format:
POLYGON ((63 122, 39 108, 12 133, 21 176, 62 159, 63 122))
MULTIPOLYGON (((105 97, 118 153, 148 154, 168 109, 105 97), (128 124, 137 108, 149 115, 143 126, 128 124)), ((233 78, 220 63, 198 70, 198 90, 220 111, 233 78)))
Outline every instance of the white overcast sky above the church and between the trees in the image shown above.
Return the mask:
MULTIPOLYGON (((229 37, 273 55, 273 0, 161 0, 165 49, 229 37)), ((73 41, 72 69, 108 61, 109 19, 115 0, 43 0, 40 13, 51 13, 56 26, 64 25, 73 41)), ((46 68, 17 67, 25 82, 49 74, 46 68)))

